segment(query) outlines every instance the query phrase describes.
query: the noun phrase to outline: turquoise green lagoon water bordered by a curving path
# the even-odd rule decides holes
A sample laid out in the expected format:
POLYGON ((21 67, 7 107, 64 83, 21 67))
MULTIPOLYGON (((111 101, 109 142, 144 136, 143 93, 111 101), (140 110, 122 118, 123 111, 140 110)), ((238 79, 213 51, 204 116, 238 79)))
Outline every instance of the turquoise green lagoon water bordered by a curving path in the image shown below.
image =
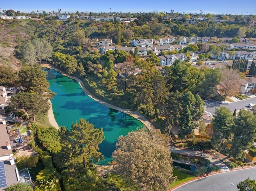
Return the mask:
POLYGON ((136 130, 137 127, 141 128, 143 124, 127 114, 96 102, 84 93, 74 79, 53 69, 47 71, 50 90, 56 93, 51 100, 56 122, 59 126, 70 128, 72 123, 84 118, 94 124, 95 128, 103 128, 105 139, 99 145, 99 151, 105 160, 98 164, 107 165, 112 160, 117 138, 136 130))

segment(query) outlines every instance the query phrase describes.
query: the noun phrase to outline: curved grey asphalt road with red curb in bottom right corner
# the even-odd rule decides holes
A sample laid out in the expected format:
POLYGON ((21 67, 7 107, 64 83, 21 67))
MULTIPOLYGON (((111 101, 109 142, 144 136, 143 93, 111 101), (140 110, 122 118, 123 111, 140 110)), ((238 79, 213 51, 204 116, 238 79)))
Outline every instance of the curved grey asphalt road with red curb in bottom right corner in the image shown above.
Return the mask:
POLYGON ((237 191, 236 185, 246 178, 256 179, 256 167, 217 173, 173 189, 175 191, 237 191))

